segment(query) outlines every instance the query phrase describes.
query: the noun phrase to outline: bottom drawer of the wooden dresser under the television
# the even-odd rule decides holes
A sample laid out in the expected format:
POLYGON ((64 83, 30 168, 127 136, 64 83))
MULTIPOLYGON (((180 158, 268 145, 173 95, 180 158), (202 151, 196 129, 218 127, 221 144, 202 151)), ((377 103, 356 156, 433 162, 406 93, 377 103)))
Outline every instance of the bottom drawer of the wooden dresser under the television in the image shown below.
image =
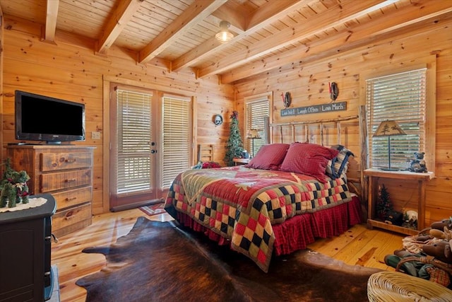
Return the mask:
POLYGON ((72 207, 58 211, 52 216, 52 233, 55 236, 64 236, 67 233, 89 226, 93 221, 91 215, 91 203, 81 204, 78 207, 72 207))

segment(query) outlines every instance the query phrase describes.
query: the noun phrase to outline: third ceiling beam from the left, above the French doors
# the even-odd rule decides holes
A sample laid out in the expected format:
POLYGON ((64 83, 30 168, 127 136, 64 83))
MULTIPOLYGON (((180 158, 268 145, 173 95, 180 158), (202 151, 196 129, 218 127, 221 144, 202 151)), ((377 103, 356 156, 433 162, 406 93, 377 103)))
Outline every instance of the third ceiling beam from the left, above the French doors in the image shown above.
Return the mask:
POLYGON ((169 24, 154 40, 146 45, 139 53, 139 62, 147 62, 156 57, 169 45, 184 35, 192 26, 196 25, 216 11, 227 0, 198 0, 169 24))

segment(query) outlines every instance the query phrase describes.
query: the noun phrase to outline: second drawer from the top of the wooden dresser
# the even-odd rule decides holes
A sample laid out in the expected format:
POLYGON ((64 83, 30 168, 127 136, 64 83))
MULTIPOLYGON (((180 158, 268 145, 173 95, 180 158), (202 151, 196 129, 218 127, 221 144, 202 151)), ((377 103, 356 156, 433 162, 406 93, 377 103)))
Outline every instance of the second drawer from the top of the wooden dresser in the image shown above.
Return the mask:
POLYGON ((40 175, 40 192, 91 185, 91 169, 40 175))

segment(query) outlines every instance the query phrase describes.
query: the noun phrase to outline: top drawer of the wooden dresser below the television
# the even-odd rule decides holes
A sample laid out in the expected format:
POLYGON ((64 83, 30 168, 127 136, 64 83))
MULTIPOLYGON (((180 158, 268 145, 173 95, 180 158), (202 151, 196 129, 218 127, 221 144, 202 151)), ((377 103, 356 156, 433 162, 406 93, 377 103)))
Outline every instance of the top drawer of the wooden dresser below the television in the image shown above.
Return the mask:
POLYGON ((90 168, 93 156, 90 152, 40 153, 40 170, 42 172, 90 168))

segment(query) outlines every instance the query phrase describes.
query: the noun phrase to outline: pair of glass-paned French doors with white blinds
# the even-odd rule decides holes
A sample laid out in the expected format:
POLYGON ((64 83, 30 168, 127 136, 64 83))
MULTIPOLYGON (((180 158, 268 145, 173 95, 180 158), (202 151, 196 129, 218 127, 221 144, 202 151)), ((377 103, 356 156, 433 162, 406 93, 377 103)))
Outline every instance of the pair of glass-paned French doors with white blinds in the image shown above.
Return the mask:
POLYGON ((112 86, 110 209, 165 198, 191 167, 191 98, 112 86))

